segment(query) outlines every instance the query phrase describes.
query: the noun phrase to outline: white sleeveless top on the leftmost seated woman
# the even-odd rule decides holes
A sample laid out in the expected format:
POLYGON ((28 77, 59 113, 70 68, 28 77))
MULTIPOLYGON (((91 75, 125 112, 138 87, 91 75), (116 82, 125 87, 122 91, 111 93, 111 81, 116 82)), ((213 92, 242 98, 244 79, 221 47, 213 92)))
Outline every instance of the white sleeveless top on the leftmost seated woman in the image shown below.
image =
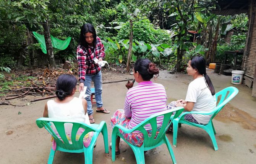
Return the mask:
POLYGON ((47 101, 49 118, 66 119, 90 125, 89 116, 84 114, 82 99, 74 97, 70 102, 57 103, 54 100, 47 101))

